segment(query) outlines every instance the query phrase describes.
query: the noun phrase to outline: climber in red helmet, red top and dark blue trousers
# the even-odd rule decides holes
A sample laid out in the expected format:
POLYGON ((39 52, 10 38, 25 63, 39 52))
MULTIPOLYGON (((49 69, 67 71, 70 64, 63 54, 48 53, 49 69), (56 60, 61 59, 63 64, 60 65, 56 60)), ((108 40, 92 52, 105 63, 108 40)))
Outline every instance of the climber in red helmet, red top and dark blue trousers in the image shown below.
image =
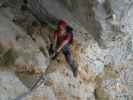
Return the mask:
POLYGON ((57 25, 57 30, 54 32, 54 43, 51 45, 53 49, 51 49, 51 54, 53 53, 53 59, 63 51, 65 55, 66 61, 71 67, 73 71, 73 75, 77 76, 78 68, 74 64, 72 59, 71 51, 69 45, 73 41, 73 28, 67 25, 67 23, 63 20, 60 20, 57 25))

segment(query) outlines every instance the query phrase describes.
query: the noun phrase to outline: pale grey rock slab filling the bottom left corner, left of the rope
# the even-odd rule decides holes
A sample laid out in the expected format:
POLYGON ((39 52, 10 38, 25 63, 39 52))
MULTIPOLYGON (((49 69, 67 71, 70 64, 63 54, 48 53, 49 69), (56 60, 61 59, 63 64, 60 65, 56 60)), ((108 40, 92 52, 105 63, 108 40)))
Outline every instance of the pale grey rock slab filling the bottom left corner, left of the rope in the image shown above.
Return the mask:
POLYGON ((16 77, 14 72, 0 68, 0 100, 14 100, 28 89, 16 77))

